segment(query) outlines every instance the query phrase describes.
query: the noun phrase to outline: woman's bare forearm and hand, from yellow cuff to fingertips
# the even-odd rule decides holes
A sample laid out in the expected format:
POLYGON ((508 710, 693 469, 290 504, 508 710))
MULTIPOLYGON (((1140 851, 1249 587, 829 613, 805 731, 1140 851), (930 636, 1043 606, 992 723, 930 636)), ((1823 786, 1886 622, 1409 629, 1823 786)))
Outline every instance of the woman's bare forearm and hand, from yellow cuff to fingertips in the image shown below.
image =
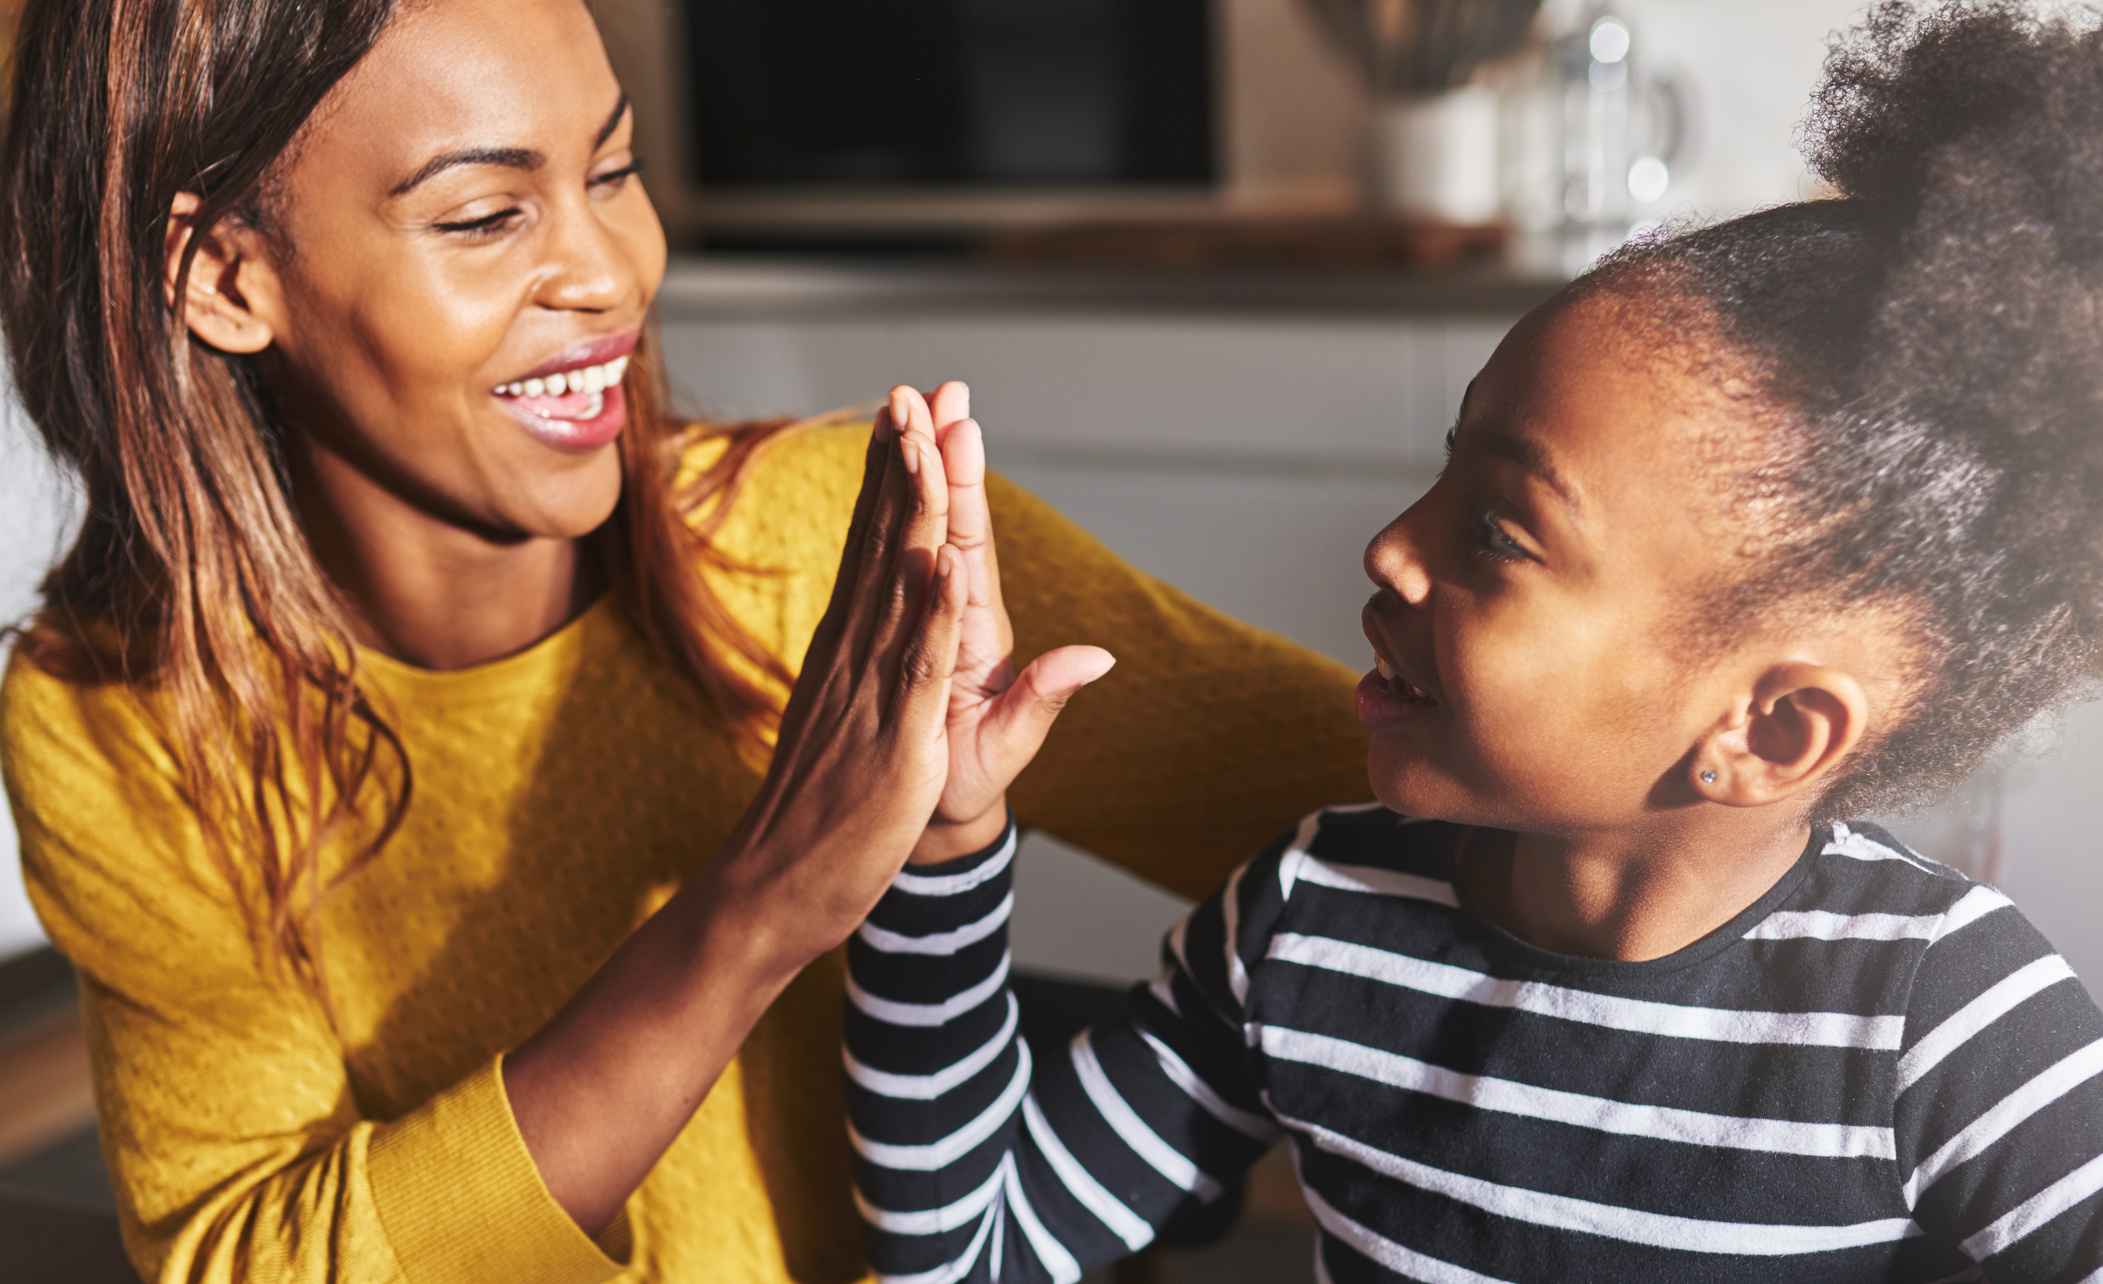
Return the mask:
POLYGON ((505 1093, 555 1200, 597 1231, 700 1107, 774 996, 890 887, 948 778, 967 609, 925 416, 869 441, 839 580, 744 820, 555 1017, 505 1093))

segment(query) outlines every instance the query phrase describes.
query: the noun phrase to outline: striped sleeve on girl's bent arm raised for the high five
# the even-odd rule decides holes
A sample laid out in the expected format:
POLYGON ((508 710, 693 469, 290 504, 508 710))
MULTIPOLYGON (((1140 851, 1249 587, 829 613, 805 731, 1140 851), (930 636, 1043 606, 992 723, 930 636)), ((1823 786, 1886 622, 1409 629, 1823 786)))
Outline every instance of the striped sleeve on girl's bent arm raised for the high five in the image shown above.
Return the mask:
POLYGON ((1117 1017, 1043 1061, 1007 986, 1014 824, 898 876, 848 944, 850 1141, 879 1278, 1073 1282, 1226 1227, 1279 1137, 1239 996, 1283 899, 1283 847, 1167 935, 1163 975, 1117 1017))

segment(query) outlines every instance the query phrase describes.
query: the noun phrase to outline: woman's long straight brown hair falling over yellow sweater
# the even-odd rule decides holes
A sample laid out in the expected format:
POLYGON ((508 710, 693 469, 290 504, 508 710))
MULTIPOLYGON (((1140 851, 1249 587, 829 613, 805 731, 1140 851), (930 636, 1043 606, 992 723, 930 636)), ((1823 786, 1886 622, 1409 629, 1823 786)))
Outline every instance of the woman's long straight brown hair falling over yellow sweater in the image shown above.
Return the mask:
MULTIPOLYGON (((32 0, 0 170, 15 387, 86 490, 80 534, 19 647, 48 672, 149 700, 212 860, 244 902, 259 895, 259 944, 318 988, 313 912, 400 826, 410 763, 360 691, 345 603, 301 530, 286 427, 259 366, 189 336, 168 303, 164 237, 185 191, 202 200, 200 229, 271 231, 301 128, 395 8, 32 0), (322 849, 339 838, 353 855, 324 876, 322 849)), ((660 414, 656 380, 650 353, 635 353, 622 492, 595 553, 635 628, 759 746, 789 675, 702 576, 742 569, 709 536, 778 424, 730 431, 675 488, 692 433, 660 414)))

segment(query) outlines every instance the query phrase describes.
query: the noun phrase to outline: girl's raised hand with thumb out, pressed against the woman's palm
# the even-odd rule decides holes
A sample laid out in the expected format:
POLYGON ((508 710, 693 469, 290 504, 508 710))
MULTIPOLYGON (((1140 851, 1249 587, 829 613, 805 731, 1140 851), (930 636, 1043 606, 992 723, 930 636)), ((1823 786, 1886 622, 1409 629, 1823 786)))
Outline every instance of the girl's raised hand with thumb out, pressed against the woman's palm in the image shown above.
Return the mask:
POLYGON ((948 780, 913 864, 978 851, 1007 822, 1007 786, 1037 757, 1075 691, 1110 670, 1102 647, 1058 647, 1016 675, 1016 630, 1001 605, 1001 569, 986 506, 986 446, 969 418, 969 389, 944 382, 934 406, 913 389, 892 389, 879 422, 921 424, 942 446, 948 479, 948 542, 961 553, 969 588, 948 687, 948 780))

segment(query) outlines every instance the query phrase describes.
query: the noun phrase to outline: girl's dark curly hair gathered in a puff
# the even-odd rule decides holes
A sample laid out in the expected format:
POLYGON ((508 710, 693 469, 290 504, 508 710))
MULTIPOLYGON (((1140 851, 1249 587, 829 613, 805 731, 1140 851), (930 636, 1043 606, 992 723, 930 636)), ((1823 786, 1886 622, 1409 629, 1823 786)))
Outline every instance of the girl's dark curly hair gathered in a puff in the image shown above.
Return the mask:
POLYGON ((1695 303, 1781 412, 1735 477, 1750 574, 1701 609, 1914 635, 1905 712, 1819 801, 1844 817, 1956 786, 2103 637, 2103 36, 1878 4, 1804 139, 1836 200, 1632 244, 1579 288, 1695 303))

